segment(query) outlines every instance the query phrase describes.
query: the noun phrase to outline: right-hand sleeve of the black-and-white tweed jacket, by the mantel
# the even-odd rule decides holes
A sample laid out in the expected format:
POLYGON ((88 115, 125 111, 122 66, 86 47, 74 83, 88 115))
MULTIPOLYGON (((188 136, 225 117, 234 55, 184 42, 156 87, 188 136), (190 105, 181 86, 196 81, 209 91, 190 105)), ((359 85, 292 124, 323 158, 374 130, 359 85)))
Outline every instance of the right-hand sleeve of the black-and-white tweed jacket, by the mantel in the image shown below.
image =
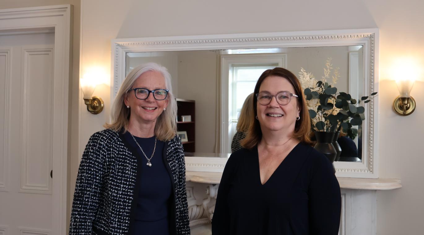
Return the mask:
MULTIPOLYGON (((177 135, 178 136, 178 135, 177 135)), ((184 150, 181 140, 178 137, 179 144, 179 177, 176 183, 176 206, 177 206, 177 232, 178 235, 190 235, 190 223, 188 218, 188 205, 187 205, 187 190, 185 181, 185 160, 184 150)))

